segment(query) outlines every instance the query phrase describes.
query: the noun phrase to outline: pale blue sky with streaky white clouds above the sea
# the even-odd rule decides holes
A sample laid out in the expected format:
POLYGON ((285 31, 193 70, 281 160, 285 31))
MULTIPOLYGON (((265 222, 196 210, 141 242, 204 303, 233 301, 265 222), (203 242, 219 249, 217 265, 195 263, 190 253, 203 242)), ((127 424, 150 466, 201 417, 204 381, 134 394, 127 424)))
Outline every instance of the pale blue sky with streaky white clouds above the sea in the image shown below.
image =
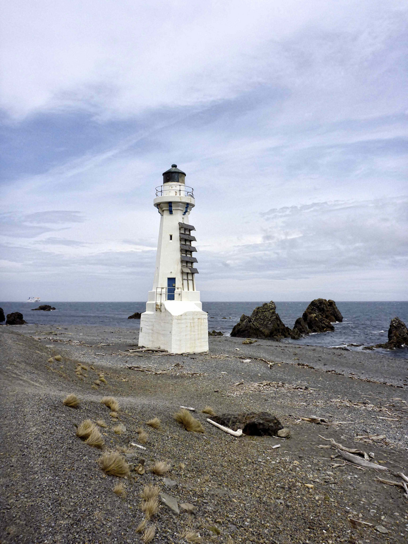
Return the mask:
POLYGON ((146 300, 172 163, 201 300, 408 300, 407 21, 403 0, 6 0, 0 300, 146 300))

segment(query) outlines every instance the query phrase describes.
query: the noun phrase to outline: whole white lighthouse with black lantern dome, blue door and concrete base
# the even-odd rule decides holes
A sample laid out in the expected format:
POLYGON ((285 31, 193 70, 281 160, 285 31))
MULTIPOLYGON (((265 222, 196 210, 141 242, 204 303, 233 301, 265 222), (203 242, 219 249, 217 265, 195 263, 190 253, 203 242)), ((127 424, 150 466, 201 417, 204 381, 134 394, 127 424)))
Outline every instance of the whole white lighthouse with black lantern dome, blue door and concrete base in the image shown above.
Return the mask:
POLYGON ((141 314, 139 345, 169 353, 208 351, 207 313, 195 290, 197 251, 189 215, 195 206, 186 174, 172 164, 156 187, 154 206, 160 214, 156 271, 146 312, 141 314))

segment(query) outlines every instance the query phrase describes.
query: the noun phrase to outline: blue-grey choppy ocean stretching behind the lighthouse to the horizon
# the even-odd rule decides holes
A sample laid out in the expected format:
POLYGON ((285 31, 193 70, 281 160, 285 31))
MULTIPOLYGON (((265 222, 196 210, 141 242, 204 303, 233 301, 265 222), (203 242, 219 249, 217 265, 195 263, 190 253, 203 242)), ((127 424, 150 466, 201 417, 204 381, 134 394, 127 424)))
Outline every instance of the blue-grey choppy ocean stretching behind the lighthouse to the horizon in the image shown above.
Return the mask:
MULTIPOLYGON (((203 302, 208 312, 208 329, 229 335, 243 313, 250 315, 262 302, 203 302)), ((276 302, 276 311, 283 323, 292 328, 296 318, 305 311, 308 302, 276 302)), ((322 345, 326 347, 345 344, 373 345, 387 341, 388 326, 398 316, 408 323, 408 302, 336 302, 343 315, 343 323, 335 323, 335 331, 313 334, 300 340, 285 339, 292 344, 322 345)), ((144 312, 145 302, 52 302, 39 303, 0 302, 4 313, 21 312, 28 323, 41 325, 99 325, 139 329, 139 320, 127 319, 134 312, 144 312), (53 312, 32 312, 30 308, 50 304, 53 312)), ((361 347, 352 349, 362 349, 361 347)), ((378 350, 393 357, 408 358, 408 349, 378 350)))

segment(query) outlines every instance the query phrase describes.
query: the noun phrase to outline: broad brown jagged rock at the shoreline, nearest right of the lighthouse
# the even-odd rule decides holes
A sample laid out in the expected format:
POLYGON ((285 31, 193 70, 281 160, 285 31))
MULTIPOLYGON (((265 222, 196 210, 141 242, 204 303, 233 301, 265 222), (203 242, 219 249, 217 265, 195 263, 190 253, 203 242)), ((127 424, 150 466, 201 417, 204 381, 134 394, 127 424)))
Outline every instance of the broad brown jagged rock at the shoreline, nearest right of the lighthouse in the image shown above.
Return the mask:
POLYGON ((290 336, 290 329, 282 323, 272 300, 258 306, 251 316, 242 314, 239 323, 232 329, 231 336, 240 338, 268 338, 281 340, 290 336))

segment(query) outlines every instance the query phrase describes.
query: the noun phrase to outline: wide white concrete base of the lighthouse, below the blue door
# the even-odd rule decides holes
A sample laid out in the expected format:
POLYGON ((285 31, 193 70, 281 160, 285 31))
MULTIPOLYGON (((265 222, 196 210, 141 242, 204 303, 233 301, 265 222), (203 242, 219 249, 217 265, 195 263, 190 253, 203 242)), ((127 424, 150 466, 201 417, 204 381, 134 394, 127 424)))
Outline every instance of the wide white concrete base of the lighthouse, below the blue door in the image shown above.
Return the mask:
POLYGON ((147 302, 140 318, 139 345, 169 353, 206 353, 207 317, 201 302, 166 300, 157 310, 154 302, 147 302))

